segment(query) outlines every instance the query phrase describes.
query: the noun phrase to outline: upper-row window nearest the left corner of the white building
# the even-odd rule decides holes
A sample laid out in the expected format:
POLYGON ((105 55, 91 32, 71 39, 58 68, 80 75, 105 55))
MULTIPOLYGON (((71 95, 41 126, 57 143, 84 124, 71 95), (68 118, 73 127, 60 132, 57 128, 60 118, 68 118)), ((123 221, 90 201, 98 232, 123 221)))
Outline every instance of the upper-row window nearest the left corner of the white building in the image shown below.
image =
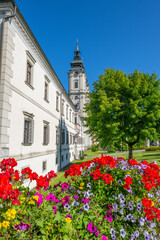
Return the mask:
POLYGON ((25 83, 31 88, 33 88, 33 66, 36 62, 36 60, 33 58, 33 56, 30 54, 29 51, 26 51, 26 57, 27 57, 27 74, 26 74, 26 81, 25 83))

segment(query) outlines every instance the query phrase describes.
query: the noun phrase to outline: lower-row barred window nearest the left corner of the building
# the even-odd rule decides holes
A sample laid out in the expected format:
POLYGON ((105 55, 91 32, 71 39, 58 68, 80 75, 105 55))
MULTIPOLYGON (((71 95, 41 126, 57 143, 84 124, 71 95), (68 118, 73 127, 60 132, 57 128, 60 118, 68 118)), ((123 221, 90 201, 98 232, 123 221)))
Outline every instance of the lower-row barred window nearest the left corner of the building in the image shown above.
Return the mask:
POLYGON ((33 143, 33 132, 34 132, 33 114, 29 114, 27 112, 23 112, 23 113, 25 115, 23 144, 31 145, 33 143))

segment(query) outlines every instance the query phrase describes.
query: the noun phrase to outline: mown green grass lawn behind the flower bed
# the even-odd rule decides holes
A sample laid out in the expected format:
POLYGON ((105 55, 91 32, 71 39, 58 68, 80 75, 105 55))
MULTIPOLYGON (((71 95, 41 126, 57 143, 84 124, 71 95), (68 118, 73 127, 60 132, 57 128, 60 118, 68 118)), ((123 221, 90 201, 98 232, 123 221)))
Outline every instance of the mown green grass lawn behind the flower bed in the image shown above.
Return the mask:
MULTIPOLYGON (((88 150, 88 151, 90 151, 90 150, 88 150)), ((85 153, 87 153, 87 151, 85 151, 85 153)), ((95 156, 97 156, 97 155, 99 155, 101 153, 107 154, 104 151, 97 151, 97 152, 91 152, 90 151, 89 155, 91 153, 93 153, 91 158, 86 158, 84 160, 74 160, 71 163, 69 163, 67 166, 65 166, 61 171, 59 171, 57 173, 57 178, 53 179, 51 184, 57 184, 60 181, 61 182, 65 182, 66 181, 66 178, 64 177, 65 170, 67 170, 71 165, 73 165, 73 164, 80 164, 82 162, 86 162, 88 160, 93 159, 95 156)), ((107 154, 107 155, 112 155, 112 154, 107 154)), ((88 154, 87 154, 87 157, 89 157, 88 154)), ((117 154, 113 155, 113 157, 124 157, 124 158, 127 159, 128 158, 128 154, 123 154, 123 152, 120 152, 120 153, 117 153, 117 154)), ((157 164, 160 166, 160 151, 136 152, 136 153, 133 153, 133 158, 135 158, 138 162, 141 162, 142 160, 146 160, 148 162, 156 161, 157 164)))

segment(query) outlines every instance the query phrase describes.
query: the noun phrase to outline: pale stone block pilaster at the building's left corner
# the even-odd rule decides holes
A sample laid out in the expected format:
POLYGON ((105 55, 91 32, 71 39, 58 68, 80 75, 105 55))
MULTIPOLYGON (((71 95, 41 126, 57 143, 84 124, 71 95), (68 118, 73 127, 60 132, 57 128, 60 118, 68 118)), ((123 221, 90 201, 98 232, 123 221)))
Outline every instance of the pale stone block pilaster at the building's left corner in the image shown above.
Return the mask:
POLYGON ((11 113, 15 32, 11 21, 2 23, 0 66, 0 158, 9 156, 9 129, 11 113))

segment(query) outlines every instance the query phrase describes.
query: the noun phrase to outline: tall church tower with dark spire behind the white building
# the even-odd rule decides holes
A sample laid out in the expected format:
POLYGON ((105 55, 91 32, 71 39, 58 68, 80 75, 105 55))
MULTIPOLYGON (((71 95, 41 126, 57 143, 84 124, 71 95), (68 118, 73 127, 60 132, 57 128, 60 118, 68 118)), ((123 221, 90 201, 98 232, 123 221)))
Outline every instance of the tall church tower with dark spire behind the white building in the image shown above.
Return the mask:
POLYGON ((88 85, 83 60, 80 57, 78 40, 76 44, 76 50, 74 51, 74 60, 70 64, 71 70, 68 72, 69 96, 73 104, 76 106, 80 116, 84 117, 84 104, 89 101, 88 93, 90 92, 90 88, 88 85))

